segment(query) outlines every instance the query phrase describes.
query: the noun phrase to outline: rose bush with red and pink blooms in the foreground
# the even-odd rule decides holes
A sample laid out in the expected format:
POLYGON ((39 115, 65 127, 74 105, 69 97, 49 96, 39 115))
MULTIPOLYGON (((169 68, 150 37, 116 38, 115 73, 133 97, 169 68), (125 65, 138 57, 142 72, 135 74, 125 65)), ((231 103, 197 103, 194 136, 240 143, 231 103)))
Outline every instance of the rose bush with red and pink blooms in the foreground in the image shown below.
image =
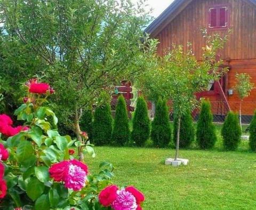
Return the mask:
POLYGON ((38 79, 25 87, 24 103, 14 112, 25 123, 14 127, 9 116, 0 115, 0 209, 141 209, 141 192, 111 183, 113 165, 103 162, 91 174, 77 160, 76 147, 95 156, 85 132, 80 142, 53 129, 58 118, 44 106, 53 88, 38 79))

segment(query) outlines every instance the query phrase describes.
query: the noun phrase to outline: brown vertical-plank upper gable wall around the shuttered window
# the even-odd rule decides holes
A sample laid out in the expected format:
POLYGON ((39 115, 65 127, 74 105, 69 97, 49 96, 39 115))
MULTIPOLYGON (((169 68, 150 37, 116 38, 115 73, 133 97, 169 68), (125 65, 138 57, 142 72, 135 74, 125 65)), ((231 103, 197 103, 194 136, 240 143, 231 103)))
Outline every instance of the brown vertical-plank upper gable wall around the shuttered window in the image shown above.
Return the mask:
MULTIPOLYGON (((163 55, 172 43, 193 44, 197 60, 201 60, 202 46, 205 41, 201 29, 207 28, 208 10, 212 5, 229 4, 230 28, 233 34, 221 52, 226 59, 256 59, 256 7, 245 0, 195 0, 191 2, 155 38, 159 39, 158 54, 163 55)), ((227 30, 213 30, 209 34, 225 35, 227 30)))

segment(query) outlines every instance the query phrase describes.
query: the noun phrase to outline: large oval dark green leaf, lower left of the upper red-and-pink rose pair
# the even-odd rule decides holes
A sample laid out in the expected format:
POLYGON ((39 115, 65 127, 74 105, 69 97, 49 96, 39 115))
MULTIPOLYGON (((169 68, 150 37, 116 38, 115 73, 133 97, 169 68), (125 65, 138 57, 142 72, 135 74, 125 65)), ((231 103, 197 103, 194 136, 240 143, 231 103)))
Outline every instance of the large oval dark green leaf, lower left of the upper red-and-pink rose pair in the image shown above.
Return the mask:
POLYGON ((35 177, 32 177, 27 185, 27 195, 35 201, 44 192, 44 183, 40 182, 35 177))

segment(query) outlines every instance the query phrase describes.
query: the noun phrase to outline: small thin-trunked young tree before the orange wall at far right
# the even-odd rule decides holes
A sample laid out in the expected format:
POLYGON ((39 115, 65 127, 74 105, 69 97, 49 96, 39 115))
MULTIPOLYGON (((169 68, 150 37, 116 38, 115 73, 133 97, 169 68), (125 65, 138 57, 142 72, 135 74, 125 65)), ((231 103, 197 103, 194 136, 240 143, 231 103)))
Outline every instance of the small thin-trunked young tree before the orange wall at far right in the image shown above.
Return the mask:
POLYGON ((237 91, 238 97, 240 99, 240 108, 239 108, 239 122, 242 131, 242 102, 243 99, 250 95, 250 92, 254 88, 254 84, 251 83, 250 75, 243 73, 243 74, 236 74, 236 85, 235 90, 237 91))

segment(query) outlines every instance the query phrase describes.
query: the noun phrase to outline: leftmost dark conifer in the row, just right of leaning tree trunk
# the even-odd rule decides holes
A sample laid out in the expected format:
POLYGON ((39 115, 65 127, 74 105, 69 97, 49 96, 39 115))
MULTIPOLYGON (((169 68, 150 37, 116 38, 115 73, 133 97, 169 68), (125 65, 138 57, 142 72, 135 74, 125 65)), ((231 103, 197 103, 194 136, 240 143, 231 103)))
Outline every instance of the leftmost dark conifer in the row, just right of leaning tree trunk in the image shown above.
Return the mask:
POLYGON ((81 125, 81 131, 85 131, 88 134, 89 140, 92 140, 92 127, 93 127, 92 109, 88 109, 84 111, 79 123, 81 125))

